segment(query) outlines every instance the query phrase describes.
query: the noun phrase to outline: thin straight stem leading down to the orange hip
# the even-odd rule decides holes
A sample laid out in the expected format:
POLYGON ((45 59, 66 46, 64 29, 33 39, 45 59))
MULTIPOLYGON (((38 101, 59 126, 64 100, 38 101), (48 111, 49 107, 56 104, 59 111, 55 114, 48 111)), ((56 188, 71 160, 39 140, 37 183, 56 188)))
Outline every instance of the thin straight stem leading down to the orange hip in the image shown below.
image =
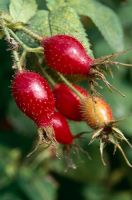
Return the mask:
POLYGON ((60 79, 77 95, 80 97, 80 99, 83 99, 84 96, 78 91, 76 90, 76 88, 59 72, 57 72, 58 76, 60 77, 60 79))

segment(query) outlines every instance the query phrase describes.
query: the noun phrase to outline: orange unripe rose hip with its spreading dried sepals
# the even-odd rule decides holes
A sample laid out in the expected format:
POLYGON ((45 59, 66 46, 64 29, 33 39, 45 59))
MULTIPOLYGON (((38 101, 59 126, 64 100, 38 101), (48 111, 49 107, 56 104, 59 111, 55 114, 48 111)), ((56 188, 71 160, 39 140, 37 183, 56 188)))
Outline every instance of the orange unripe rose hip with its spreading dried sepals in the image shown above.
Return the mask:
POLYGON ((83 119, 94 129, 90 143, 95 139, 100 140, 100 154, 103 164, 106 165, 103 158, 104 147, 107 143, 112 143, 115 151, 118 148, 126 163, 132 167, 119 142, 125 141, 131 148, 132 145, 116 127, 117 121, 113 119, 112 110, 105 100, 97 96, 89 96, 88 98, 82 99, 81 110, 83 119))

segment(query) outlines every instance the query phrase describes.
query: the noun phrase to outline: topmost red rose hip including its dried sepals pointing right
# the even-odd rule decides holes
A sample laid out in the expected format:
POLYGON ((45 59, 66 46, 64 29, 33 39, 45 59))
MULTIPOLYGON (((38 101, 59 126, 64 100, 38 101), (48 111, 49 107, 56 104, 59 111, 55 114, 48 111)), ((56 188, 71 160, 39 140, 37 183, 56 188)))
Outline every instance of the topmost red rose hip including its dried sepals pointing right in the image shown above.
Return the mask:
MULTIPOLYGON (((95 92, 97 80, 101 80, 109 89, 112 89, 121 95, 106 79, 103 70, 109 65, 125 65, 113 61, 112 58, 120 55, 119 53, 106 55, 101 58, 91 58, 81 42, 70 35, 54 35, 42 39, 44 48, 44 59, 46 64, 64 75, 82 75, 88 78, 92 92, 95 92)), ((108 69, 110 69, 108 67, 108 69)), ((124 95, 123 95, 124 96, 124 95)))

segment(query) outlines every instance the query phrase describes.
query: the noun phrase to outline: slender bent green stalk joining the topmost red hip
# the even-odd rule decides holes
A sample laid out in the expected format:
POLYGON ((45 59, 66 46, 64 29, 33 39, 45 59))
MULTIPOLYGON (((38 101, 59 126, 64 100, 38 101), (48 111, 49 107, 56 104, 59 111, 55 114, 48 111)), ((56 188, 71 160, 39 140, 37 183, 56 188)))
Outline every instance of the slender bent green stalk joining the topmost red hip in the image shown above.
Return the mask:
POLYGON ((17 35, 8 28, 9 33, 12 35, 12 37, 25 49, 27 52, 34 52, 34 53, 43 53, 43 48, 42 47, 37 47, 37 48, 30 48, 27 45, 25 45, 17 35))

